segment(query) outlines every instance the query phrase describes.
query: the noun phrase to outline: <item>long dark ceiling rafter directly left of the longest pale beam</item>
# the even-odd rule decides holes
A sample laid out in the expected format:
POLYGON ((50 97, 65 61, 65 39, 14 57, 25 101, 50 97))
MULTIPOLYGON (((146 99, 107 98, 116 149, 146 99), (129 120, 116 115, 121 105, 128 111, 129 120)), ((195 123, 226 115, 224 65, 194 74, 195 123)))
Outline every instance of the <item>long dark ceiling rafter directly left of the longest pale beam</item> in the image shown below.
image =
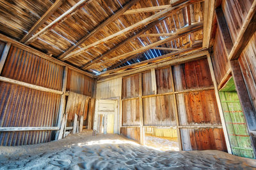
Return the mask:
POLYGON ((131 8, 131 6, 134 5, 135 3, 137 3, 138 1, 139 0, 132 0, 129 3, 125 4, 125 6, 123 8, 120 8, 120 10, 116 11, 115 14, 111 15, 111 17, 109 17, 107 20, 102 22, 102 24, 99 24, 97 27, 95 27, 93 29, 93 31, 91 31, 88 35, 84 36, 79 41, 77 41, 77 43, 75 45, 68 48, 64 53, 62 53, 58 57, 58 59, 63 59, 63 57, 65 57, 70 52, 72 52, 75 48, 77 48, 77 46, 81 45, 82 43, 84 43, 84 41, 91 38, 92 36, 95 36, 95 34, 97 34, 103 27, 105 27, 106 25, 108 25, 111 22, 113 22, 114 20, 116 20, 116 18, 120 17, 120 15, 122 15, 126 10, 131 8))

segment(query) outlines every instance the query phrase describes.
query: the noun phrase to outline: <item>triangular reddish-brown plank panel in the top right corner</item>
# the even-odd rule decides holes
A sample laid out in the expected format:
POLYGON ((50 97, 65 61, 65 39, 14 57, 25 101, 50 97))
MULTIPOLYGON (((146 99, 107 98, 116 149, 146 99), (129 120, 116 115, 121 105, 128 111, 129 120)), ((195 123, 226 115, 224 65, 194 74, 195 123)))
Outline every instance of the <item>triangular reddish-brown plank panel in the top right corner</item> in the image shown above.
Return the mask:
POLYGON ((233 43, 241 30, 253 0, 223 0, 221 7, 225 15, 233 43))

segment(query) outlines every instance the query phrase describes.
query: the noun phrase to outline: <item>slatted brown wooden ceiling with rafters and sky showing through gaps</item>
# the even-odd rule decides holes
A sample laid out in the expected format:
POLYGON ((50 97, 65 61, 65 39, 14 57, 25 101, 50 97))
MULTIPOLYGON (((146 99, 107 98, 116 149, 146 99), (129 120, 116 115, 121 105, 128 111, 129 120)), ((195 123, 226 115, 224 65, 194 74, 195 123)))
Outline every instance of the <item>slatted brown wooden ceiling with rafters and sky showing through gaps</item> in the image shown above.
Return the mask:
POLYGON ((209 6, 211 0, 0 0, 0 32, 100 74, 208 47, 209 6))

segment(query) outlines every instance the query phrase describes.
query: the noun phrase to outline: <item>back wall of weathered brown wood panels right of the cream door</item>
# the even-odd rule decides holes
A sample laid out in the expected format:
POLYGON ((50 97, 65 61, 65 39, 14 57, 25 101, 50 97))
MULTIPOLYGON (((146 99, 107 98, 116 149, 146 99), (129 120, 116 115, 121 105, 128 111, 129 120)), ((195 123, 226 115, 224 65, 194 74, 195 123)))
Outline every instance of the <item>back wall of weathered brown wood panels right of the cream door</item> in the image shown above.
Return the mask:
POLYGON ((122 101, 125 136, 134 139, 127 129, 177 127, 182 150, 227 151, 206 58, 124 76, 122 101))

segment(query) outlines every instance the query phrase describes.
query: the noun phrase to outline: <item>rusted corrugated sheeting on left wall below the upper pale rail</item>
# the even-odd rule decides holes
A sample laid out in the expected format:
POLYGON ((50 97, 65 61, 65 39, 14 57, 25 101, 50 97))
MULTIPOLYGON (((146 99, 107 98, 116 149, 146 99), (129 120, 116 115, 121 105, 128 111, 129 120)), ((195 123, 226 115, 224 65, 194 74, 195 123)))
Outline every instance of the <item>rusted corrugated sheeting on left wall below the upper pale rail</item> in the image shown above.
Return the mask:
MULTIPOLYGON (((55 127, 60 95, 0 82, 0 127, 55 127)), ((1 132, 4 146, 51 141, 52 132, 1 132)))

